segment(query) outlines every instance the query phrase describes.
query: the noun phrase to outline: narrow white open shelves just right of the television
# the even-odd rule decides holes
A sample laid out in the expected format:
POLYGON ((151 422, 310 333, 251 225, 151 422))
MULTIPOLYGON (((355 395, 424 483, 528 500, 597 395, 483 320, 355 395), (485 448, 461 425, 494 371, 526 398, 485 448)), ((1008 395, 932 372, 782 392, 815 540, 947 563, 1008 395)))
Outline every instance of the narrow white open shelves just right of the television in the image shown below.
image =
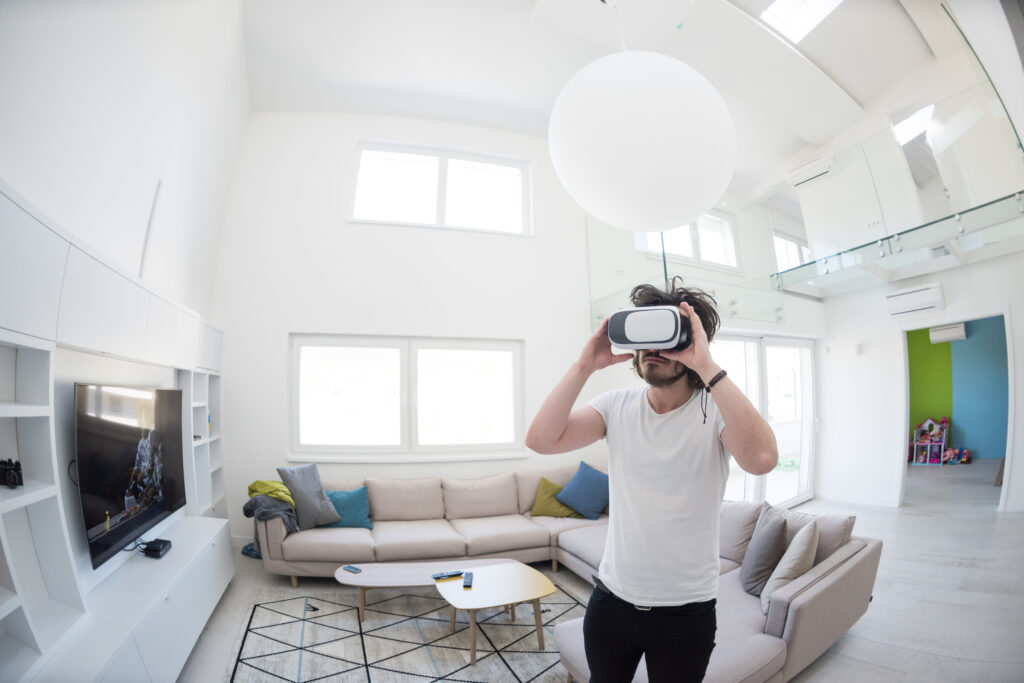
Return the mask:
POLYGON ((188 513, 226 517, 223 450, 220 439, 220 375, 205 370, 179 370, 183 415, 183 442, 191 444, 185 458, 188 513), (187 424, 184 424, 187 423, 187 424))

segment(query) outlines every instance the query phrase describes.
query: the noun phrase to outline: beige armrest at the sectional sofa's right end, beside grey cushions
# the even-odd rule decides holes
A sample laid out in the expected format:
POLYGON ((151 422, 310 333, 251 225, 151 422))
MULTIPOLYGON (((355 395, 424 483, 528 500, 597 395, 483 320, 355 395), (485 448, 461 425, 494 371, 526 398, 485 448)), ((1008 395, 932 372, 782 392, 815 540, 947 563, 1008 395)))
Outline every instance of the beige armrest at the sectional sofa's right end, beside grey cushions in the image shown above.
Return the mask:
POLYGON ((820 656, 867 611, 881 557, 881 541, 851 539, 771 596, 765 633, 786 641, 786 680, 820 656))

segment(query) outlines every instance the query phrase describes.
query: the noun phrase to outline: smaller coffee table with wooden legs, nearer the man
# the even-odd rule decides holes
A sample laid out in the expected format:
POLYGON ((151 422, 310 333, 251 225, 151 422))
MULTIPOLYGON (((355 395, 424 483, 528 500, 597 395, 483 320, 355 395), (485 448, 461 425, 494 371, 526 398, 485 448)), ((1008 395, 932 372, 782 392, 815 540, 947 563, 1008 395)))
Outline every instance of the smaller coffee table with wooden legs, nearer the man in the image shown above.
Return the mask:
POLYGON ((541 598, 555 592, 555 585, 531 566, 516 560, 501 564, 468 567, 473 572, 473 587, 463 588, 462 581, 437 582, 437 592, 452 605, 452 631, 455 631, 457 609, 469 611, 469 663, 476 664, 476 612, 479 609, 506 606, 511 608, 515 621, 515 605, 520 602, 534 604, 534 622, 537 640, 544 649, 544 623, 541 618, 541 598))

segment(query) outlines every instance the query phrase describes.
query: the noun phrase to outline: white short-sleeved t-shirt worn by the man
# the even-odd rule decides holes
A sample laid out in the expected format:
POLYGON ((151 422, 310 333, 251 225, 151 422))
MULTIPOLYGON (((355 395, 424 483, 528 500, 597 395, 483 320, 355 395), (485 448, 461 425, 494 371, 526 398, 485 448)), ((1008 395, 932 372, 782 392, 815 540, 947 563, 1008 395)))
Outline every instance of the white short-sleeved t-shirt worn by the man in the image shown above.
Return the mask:
POLYGON ((658 415, 647 388, 620 389, 590 402, 607 433, 608 537, 598 575, 638 605, 703 602, 718 594, 718 523, 729 476, 725 428, 708 395, 658 415))

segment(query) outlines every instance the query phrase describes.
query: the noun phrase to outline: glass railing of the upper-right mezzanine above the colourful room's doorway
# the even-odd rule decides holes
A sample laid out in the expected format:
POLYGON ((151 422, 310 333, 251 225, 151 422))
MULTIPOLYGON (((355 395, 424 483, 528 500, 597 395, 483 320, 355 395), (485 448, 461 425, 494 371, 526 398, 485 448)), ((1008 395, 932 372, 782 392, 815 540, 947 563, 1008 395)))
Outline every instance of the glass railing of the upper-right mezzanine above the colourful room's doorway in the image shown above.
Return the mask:
POLYGON ((987 81, 790 181, 815 259, 773 275, 779 290, 862 288, 962 265, 1020 237, 1024 154, 987 81))

